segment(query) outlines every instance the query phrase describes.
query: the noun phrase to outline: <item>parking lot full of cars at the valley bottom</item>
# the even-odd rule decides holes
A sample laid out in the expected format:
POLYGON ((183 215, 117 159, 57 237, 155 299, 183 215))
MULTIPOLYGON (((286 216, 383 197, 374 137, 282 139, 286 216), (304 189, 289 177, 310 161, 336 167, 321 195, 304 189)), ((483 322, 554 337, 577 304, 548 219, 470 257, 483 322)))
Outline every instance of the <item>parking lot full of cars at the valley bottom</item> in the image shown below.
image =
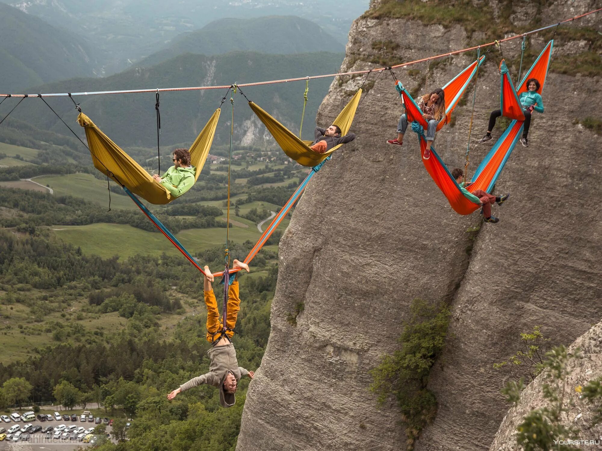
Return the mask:
MULTIPOLYGON (((4 428, 6 428, 7 426, 12 426, 12 425, 24 425, 25 423, 23 422, 18 422, 18 423, 2 423, 2 426, 4 428)), ((52 421, 52 422, 39 422, 39 421, 34 421, 31 422, 31 424, 33 424, 34 426, 36 425, 40 425, 42 426, 42 428, 46 428, 46 426, 52 426, 53 428, 55 428, 58 425, 66 425, 66 426, 70 426, 70 425, 75 425, 75 426, 82 426, 84 428, 92 428, 93 426, 95 426, 95 423, 91 423, 91 422, 80 422, 80 421, 75 421, 75 422, 67 422, 67 421, 52 421)), ((111 426, 107 426, 107 434, 110 434, 113 428, 111 428, 111 426)), ((83 446, 83 447, 88 447, 91 446, 90 443, 82 443, 81 441, 78 440, 61 440, 58 438, 47 438, 46 434, 28 434, 25 433, 27 435, 29 435, 29 440, 27 441, 18 441, 18 442, 14 442, 14 441, 0 441, 0 451, 37 451, 37 450, 49 450, 49 451, 72 451, 74 449, 76 449, 78 446, 83 446)))

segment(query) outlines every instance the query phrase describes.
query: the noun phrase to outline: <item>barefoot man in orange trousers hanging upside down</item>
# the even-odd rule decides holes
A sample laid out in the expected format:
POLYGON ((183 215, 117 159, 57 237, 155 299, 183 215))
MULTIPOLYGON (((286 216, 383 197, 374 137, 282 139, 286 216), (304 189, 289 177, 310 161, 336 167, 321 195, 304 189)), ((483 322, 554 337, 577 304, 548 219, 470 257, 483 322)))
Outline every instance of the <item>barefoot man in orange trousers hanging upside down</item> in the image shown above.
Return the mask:
MULTIPOLYGON (((234 260, 234 268, 241 268, 249 272, 249 265, 246 263, 234 260)), ((207 334, 206 339, 209 343, 213 343, 211 349, 207 351, 209 355, 209 372, 196 378, 190 379, 179 388, 176 388, 172 393, 167 395, 167 399, 172 400, 178 393, 186 391, 189 388, 196 387, 200 384, 209 384, 218 387, 220 391, 220 404, 222 407, 232 407, 236 402, 234 394, 238 388, 238 381, 243 376, 249 376, 253 379, 255 373, 247 371, 238 366, 236 360, 236 351, 230 339, 234 335, 234 326, 238 310, 240 310, 240 298, 238 297, 238 274, 234 282, 228 289, 228 314, 226 315, 226 332, 222 334, 222 319, 217 310, 216 295, 211 288, 213 282, 213 274, 209 271, 209 267, 205 266, 205 304, 207 306, 207 334)))

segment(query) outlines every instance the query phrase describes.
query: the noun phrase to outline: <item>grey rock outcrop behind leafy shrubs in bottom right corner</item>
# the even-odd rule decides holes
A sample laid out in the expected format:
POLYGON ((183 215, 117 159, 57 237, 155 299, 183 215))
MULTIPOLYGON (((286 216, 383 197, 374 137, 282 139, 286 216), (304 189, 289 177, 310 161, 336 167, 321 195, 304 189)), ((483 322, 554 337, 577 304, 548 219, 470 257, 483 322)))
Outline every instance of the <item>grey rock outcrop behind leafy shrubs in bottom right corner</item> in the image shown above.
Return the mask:
MULTIPOLYGON (((573 345, 570 346, 569 352, 573 352, 576 348, 581 350, 581 358, 569 358, 567 367, 571 373, 566 378, 566 387, 568 391, 574 393, 574 388, 581 385, 584 387, 589 381, 602 376, 602 323, 598 323, 589 331, 579 337, 573 345)), ((514 451, 521 450, 517 446, 516 432, 517 426, 523 422, 524 416, 529 414, 533 409, 547 406, 548 403, 542 396, 542 384, 545 379, 543 375, 535 378, 523 393, 521 400, 515 407, 512 407, 501 422, 500 429, 495 434, 495 438, 489 451, 514 451)), ((574 440, 583 441, 600 441, 602 437, 602 425, 593 425, 595 410, 600 407, 600 402, 588 402, 577 394, 573 407, 569 408, 568 414, 563 417, 563 424, 569 426, 577 426, 580 429, 579 438, 574 440)), ((565 440, 567 437, 559 437, 558 440, 565 440)), ((588 446, 583 446, 587 448, 588 446)))

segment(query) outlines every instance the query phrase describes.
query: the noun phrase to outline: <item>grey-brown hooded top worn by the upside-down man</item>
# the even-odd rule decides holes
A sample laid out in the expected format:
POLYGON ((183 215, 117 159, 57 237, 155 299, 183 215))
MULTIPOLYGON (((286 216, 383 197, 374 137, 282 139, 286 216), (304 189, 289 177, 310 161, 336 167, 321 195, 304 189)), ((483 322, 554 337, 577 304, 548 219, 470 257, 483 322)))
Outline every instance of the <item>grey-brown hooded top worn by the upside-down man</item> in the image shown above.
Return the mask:
POLYGON ((226 393, 224 391, 226 376, 228 373, 232 373, 238 382, 241 377, 248 375, 249 372, 238 366, 236 351, 232 343, 223 346, 213 346, 213 348, 207 351, 207 355, 211 360, 211 363, 209 363, 209 372, 190 379, 190 381, 180 385, 180 388, 182 391, 186 391, 200 384, 213 385, 220 390, 220 404, 222 407, 232 407, 236 402, 236 397, 234 393, 226 393))

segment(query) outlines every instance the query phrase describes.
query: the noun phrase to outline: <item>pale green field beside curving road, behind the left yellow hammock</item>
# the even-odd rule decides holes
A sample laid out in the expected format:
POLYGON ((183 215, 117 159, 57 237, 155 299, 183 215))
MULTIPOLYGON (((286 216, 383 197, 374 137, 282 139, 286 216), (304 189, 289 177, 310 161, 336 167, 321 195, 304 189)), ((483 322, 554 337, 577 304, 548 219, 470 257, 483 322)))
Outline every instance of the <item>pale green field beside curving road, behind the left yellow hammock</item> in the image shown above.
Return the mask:
MULTIPOLYGON (((68 174, 66 176, 40 176, 36 182, 49 185, 54 195, 72 195, 83 197, 102 207, 108 207, 109 195, 107 181, 96 179, 92 174, 68 174)), ((111 182, 113 183, 113 182, 111 182)), ((137 209, 138 207, 126 195, 111 193, 111 208, 137 209)))

